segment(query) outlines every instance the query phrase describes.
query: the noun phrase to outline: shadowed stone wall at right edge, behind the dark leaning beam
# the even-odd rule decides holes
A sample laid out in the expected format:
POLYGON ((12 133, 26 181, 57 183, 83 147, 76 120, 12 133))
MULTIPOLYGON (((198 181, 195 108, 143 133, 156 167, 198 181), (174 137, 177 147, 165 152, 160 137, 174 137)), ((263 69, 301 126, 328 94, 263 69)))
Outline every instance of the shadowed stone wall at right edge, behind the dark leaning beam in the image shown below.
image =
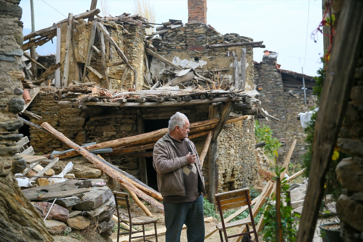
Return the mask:
MULTIPOLYGON (((361 50, 362 51, 362 50, 361 50)), ((345 242, 363 241, 363 51, 355 69, 350 100, 337 140, 340 151, 352 157, 337 165, 337 179, 343 185, 337 201, 340 237, 345 242)))

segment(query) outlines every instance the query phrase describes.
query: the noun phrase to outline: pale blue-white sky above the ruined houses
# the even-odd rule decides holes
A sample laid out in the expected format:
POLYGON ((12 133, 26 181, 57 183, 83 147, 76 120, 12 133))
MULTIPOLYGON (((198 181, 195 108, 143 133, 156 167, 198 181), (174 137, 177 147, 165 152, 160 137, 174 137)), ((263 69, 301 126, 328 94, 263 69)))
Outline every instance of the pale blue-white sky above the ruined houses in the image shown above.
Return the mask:
MULTIPOLYGON (((99 9, 101 2, 108 5, 108 13, 112 16, 124 12, 134 14, 132 0, 98 0, 99 9)), ((91 0, 34 0, 36 30, 66 18, 46 3, 68 16, 69 12, 73 15, 85 12, 90 8, 91 0)), ((154 6, 156 23, 167 22, 168 19, 188 22, 187 0, 150 0, 150 5, 154 6)), ((315 76, 321 66, 323 36, 318 33, 317 42, 314 42, 310 35, 322 20, 321 6, 321 0, 207 0, 207 24, 221 34, 238 33, 254 41, 264 41, 265 49, 278 53, 277 63, 281 64, 281 69, 301 73, 306 50, 304 74, 315 76)), ((24 34, 28 34, 31 32, 30 1, 21 0, 20 7, 23 8, 21 21, 24 22, 24 34)), ((54 54, 56 37, 53 43, 49 41, 36 50, 41 55, 54 54)), ((262 60, 265 49, 253 49, 254 61, 262 60)))

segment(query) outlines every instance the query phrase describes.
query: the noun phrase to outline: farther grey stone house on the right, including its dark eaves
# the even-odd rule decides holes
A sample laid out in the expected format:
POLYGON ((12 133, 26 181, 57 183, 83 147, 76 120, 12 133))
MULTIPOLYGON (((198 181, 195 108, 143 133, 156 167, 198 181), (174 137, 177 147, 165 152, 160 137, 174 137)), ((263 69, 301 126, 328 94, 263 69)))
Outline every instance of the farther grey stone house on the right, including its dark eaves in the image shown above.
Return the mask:
POLYGON ((254 83, 260 93, 258 99, 263 103, 264 110, 279 119, 279 121, 272 118, 266 120, 261 114, 258 115, 260 126, 263 124, 270 126, 273 137, 282 143, 278 151, 278 160, 284 161, 291 143, 297 139, 295 150, 298 152, 292 154, 291 161, 298 161, 306 152, 306 134, 298 114, 310 111, 310 107, 314 106, 316 95, 313 95, 312 91, 315 79, 280 69, 280 65, 277 64, 277 53, 265 50, 262 61, 254 63, 254 83), (304 97, 303 77, 306 97, 304 97))

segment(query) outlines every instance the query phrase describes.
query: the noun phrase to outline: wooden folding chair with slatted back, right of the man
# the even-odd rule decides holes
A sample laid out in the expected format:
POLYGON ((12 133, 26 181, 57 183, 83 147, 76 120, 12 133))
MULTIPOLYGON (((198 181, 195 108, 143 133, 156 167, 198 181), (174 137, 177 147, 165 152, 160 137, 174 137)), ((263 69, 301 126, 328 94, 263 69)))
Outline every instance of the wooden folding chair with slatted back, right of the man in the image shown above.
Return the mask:
POLYGON ((243 189, 238 189, 238 190, 234 190, 234 191, 230 191, 230 192, 218 193, 218 194, 215 194, 215 197, 216 197, 216 203, 217 203, 217 210, 219 210, 219 214, 221 216, 221 223, 216 225, 217 229, 219 230, 219 237, 221 238, 221 242, 223 242, 222 231, 223 231, 226 242, 228 242, 228 238, 233 238, 233 237, 237 237, 237 236, 245 235, 245 234, 248 234, 249 241, 253 241, 251 239, 251 235, 250 235, 252 233, 254 234, 254 237, 256 238, 256 241, 253 241, 253 242, 258 242, 257 231, 256 231, 256 227, 254 226, 253 215, 252 215, 252 210, 251 210, 251 197, 249 195, 249 188, 243 188, 243 189), (245 205, 248 205, 249 215, 250 215, 249 218, 247 217, 242 220, 224 223, 222 210, 237 208, 237 207, 241 207, 241 206, 245 206, 245 205), (253 228, 252 231, 250 231, 248 228, 249 224, 252 224, 252 228, 253 228), (237 226, 243 226, 243 225, 246 225, 247 232, 242 233, 242 234, 235 234, 235 235, 227 236, 226 229, 232 228, 232 227, 237 227, 237 226))

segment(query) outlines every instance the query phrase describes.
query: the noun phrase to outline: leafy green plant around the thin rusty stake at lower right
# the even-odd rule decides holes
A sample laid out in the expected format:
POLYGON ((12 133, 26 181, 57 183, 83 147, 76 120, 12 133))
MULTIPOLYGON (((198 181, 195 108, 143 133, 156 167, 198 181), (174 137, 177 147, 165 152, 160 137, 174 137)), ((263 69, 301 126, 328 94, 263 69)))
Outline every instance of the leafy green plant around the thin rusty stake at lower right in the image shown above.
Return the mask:
MULTIPOLYGON (((280 173, 285 170, 285 168, 281 169, 278 166, 275 166, 274 171, 276 173, 276 177, 280 177, 280 173)), ((276 180, 275 177, 275 180, 276 180)), ((282 180, 282 182, 284 179, 282 180)), ((280 216, 281 216, 281 228, 282 228, 282 237, 284 241, 294 242, 296 241, 296 222, 293 217, 291 217, 291 208, 290 206, 284 205, 284 200, 288 202, 290 198, 287 197, 286 191, 289 189, 290 185, 284 184, 281 185, 281 190, 278 192, 285 193, 285 198, 280 201, 280 216)), ((276 222, 276 196, 272 195, 273 199, 270 200, 266 209, 263 212, 264 214, 264 229, 261 231, 264 237, 265 242, 275 242, 276 241, 276 231, 277 231, 277 222, 276 222), (275 201, 275 204, 273 204, 275 201)))

